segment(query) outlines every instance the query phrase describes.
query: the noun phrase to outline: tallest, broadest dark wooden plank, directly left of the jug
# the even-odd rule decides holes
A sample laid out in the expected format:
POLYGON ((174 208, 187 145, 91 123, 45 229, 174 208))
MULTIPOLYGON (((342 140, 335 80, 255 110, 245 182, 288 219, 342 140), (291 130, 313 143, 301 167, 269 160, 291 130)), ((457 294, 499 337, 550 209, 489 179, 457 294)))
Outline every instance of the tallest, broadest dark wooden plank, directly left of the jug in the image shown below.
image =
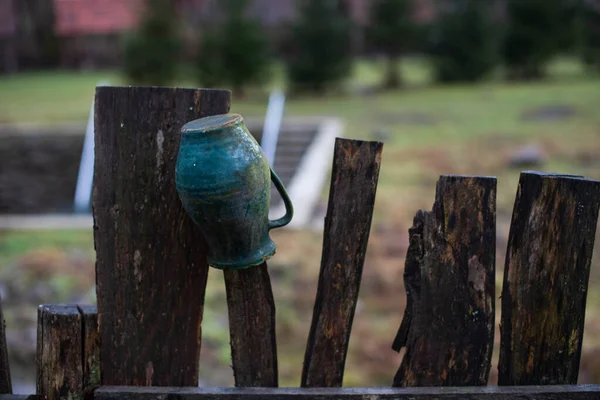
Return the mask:
POLYGON ((94 243, 103 384, 196 386, 205 243, 175 189, 184 123, 230 92, 99 87, 94 243))

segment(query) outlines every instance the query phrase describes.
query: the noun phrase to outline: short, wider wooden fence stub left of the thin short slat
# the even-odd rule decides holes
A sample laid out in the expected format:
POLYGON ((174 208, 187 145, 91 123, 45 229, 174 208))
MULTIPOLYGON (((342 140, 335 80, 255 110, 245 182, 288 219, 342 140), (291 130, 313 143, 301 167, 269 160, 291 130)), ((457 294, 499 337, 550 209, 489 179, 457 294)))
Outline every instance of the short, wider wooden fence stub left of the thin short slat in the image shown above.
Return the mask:
POLYGON ((83 396, 81 315, 73 305, 38 307, 37 394, 48 400, 83 396))

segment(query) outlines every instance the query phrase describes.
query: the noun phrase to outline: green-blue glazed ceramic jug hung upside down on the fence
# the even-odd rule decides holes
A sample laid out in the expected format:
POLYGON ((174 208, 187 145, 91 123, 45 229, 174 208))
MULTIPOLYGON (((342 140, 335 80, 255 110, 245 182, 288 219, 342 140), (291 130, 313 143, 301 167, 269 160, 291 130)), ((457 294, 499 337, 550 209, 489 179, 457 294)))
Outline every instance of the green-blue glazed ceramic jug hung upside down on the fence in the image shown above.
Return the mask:
POLYGON ((292 202, 239 114, 188 122, 181 128, 175 167, 177 193, 208 244, 218 269, 259 265, 275 254, 269 231, 287 225, 292 202), (285 215, 269 220, 271 181, 285 215))

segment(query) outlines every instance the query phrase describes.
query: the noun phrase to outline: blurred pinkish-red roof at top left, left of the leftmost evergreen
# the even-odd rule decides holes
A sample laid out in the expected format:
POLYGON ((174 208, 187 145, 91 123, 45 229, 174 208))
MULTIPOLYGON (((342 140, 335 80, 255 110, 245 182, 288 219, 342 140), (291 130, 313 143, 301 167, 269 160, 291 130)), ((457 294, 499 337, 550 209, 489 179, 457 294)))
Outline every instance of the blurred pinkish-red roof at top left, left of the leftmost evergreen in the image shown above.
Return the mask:
POLYGON ((119 33, 137 25, 144 0, 54 0, 59 36, 119 33))

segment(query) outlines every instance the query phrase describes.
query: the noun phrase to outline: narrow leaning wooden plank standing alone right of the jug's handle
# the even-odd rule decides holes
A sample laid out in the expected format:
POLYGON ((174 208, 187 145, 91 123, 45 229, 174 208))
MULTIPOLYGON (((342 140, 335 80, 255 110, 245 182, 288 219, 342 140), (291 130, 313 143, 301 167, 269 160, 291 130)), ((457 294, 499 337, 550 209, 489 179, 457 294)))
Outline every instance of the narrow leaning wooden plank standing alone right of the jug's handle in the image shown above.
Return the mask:
POLYGON ((302 387, 342 386, 383 143, 337 138, 302 387))

